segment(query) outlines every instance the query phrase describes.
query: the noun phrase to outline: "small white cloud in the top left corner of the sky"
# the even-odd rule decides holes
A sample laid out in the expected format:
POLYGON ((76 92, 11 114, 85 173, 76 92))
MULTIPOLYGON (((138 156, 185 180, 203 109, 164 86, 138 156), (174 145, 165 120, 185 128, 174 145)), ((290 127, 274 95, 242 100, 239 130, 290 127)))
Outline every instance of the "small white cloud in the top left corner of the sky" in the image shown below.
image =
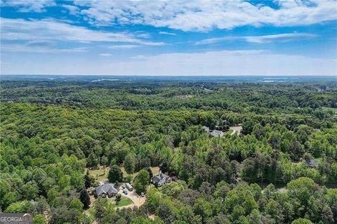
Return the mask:
POLYGON ((56 6, 53 0, 3 0, 1 7, 16 7, 18 11, 25 13, 34 11, 36 13, 43 13, 46 7, 56 6))

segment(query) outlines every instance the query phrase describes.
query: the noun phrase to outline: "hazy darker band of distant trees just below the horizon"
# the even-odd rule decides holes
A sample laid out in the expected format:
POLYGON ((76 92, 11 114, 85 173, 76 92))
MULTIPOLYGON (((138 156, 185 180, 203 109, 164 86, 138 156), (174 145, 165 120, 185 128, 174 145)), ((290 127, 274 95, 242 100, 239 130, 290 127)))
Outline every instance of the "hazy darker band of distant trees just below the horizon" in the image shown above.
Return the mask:
POLYGON ((335 84, 77 83, 3 81, 1 100, 122 110, 251 111, 314 114, 337 107, 335 84), (189 95, 183 98, 183 95, 189 95), (319 109, 321 108, 321 109, 319 109), (318 110, 317 110, 318 109, 318 110), (317 111, 316 111, 317 110, 317 111))

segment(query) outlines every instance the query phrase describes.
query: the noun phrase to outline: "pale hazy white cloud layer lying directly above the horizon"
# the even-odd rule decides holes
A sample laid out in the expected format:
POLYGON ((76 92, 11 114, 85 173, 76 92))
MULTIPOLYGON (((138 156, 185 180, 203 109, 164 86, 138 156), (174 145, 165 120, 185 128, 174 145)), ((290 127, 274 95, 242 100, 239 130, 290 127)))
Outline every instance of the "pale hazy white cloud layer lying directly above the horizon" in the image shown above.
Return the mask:
POLYGON ((45 57, 34 60, 28 58, 20 67, 11 66, 11 63, 15 64, 13 61, 5 61, 1 69, 3 74, 337 75, 337 62, 333 59, 268 51, 164 53, 140 55, 128 60, 70 59, 70 56, 55 58, 53 62, 45 57))

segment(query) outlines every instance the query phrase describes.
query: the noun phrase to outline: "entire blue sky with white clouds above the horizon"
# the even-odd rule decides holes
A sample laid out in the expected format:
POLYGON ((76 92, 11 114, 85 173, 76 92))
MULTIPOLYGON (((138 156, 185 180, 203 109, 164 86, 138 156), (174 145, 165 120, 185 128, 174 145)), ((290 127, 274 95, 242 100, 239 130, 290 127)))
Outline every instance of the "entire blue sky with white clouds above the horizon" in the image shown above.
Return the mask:
POLYGON ((337 75, 337 1, 1 2, 1 74, 337 75))

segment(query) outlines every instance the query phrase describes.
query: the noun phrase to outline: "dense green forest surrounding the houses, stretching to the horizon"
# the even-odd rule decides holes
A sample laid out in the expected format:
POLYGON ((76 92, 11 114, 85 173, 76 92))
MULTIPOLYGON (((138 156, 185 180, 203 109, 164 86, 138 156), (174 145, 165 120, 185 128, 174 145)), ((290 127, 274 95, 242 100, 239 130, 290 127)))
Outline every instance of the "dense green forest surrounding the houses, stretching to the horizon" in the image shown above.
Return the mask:
POLYGON ((8 80, 0 90, 1 212, 34 223, 337 223, 336 81, 8 80), (92 202, 89 171, 102 166, 145 204, 92 202), (178 180, 154 187, 157 166, 178 180))

